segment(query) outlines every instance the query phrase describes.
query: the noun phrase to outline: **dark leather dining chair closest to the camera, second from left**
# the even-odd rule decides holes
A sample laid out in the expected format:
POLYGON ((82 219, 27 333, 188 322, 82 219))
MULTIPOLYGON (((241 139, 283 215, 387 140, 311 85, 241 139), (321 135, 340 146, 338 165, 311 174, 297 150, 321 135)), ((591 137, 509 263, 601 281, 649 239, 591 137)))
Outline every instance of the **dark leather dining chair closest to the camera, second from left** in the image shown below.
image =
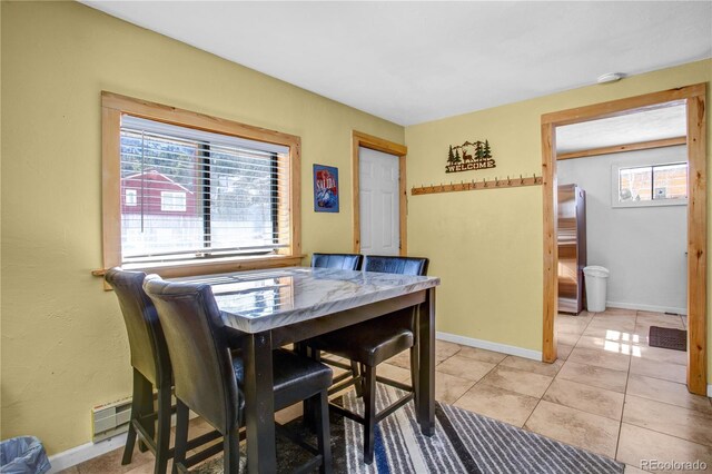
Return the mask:
MULTIPOLYGON (((186 458, 188 411, 191 409, 222 434, 224 472, 237 473, 245 371, 243 358, 230 354, 228 333, 234 330, 225 328, 209 285, 168 283, 152 275, 144 283, 144 289, 156 305, 174 364, 178 406, 174 465, 182 468, 186 458)), ((275 411, 307 398, 313 406, 319 406, 314 413, 316 448, 297 436, 288 436, 315 454, 299 471, 318 466, 319 472, 330 473, 328 387, 332 369, 284 349, 275 350, 273 357, 275 411)))

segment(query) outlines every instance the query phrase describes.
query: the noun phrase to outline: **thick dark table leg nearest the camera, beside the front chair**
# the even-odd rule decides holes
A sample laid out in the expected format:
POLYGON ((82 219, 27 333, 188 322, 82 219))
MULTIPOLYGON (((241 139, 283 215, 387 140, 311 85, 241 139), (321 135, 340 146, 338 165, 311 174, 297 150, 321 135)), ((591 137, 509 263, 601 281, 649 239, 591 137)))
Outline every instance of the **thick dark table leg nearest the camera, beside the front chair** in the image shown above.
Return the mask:
POLYGON ((277 471, 277 450, 271 333, 246 335, 244 344, 247 470, 250 473, 274 473, 277 471))

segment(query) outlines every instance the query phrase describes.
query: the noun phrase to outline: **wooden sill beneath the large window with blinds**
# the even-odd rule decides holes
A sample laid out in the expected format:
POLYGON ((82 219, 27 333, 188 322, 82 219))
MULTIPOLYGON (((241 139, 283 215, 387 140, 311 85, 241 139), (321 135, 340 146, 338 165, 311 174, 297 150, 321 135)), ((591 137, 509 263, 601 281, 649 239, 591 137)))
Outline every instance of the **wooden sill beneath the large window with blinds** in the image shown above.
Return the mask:
MULTIPOLYGON (((279 267, 294 267, 301 265, 301 258, 304 255, 274 255, 267 257, 227 257, 220 259, 212 259, 210 261, 184 261, 177 264, 171 261, 169 264, 140 266, 131 265, 127 266, 127 269, 140 270, 147 274, 158 274, 162 278, 176 278, 194 275, 209 275, 228 271, 244 271, 244 270, 258 270, 267 268, 279 267)), ((95 270, 91 273, 95 276, 103 276, 106 270, 95 270)), ((109 288, 105 285, 107 289, 109 288)))

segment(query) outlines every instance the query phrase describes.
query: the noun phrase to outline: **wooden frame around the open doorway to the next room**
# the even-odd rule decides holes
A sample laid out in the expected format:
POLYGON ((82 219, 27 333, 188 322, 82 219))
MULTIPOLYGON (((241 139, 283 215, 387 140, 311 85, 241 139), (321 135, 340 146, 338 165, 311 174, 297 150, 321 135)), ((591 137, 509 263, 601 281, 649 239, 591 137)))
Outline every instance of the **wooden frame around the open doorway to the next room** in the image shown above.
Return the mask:
POLYGON ((706 83, 670 89, 542 116, 544 198, 543 359, 556 361, 556 127, 685 105, 688 119, 688 389, 706 395, 706 83))

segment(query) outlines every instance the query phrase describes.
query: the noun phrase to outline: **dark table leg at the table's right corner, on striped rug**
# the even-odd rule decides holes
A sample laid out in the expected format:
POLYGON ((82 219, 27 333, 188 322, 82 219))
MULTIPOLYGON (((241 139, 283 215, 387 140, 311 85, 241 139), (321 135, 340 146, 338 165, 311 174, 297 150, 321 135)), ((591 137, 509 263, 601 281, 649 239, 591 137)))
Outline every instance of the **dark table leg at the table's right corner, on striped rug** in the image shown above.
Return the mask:
POLYGON ((426 436, 435 432, 435 288, 426 289, 418 312, 417 418, 426 436))

